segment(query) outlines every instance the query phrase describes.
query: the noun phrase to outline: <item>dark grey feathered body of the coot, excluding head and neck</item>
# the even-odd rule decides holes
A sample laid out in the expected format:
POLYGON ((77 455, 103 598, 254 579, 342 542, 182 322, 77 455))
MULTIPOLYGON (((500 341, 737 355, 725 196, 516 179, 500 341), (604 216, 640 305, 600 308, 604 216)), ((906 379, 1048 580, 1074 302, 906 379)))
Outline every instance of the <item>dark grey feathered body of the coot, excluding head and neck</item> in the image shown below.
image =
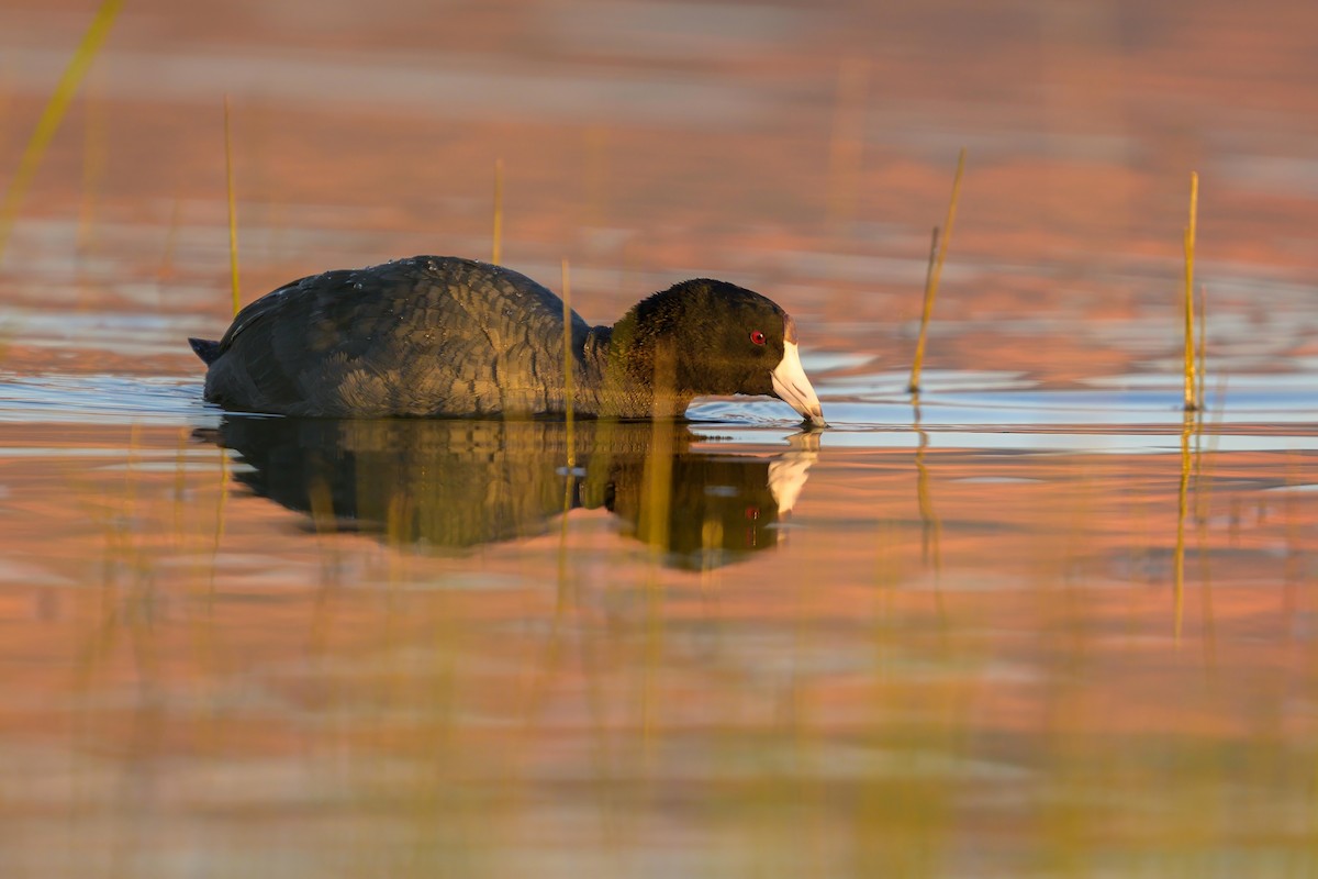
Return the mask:
MULTIPOLYGON (((588 331, 573 314, 576 351, 588 331)), ((563 302, 509 269, 420 256, 286 285, 210 353, 206 397, 228 409, 534 414, 561 399, 563 302)))

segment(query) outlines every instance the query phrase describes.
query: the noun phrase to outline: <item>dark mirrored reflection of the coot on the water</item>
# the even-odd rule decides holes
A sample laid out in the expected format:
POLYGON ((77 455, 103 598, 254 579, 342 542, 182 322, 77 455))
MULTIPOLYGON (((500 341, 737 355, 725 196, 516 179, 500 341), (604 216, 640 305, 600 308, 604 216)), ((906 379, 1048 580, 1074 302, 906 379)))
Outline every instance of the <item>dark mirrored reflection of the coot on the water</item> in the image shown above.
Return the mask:
POLYGON ((241 456, 243 485, 319 530, 465 548, 547 532, 567 497, 614 513, 679 568, 776 546, 818 441, 801 434, 791 451, 758 457, 693 451, 700 438, 683 423, 585 420, 569 473, 563 422, 225 416, 199 434, 241 456))

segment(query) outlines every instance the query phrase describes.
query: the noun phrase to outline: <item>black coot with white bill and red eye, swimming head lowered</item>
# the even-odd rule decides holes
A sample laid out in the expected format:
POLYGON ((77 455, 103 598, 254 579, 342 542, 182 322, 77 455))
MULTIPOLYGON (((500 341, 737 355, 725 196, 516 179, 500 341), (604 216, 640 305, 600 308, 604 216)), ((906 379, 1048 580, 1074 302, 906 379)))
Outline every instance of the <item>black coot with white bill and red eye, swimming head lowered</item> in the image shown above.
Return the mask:
MULTIPOLYGON (((613 327, 573 314, 571 335, 580 414, 680 416, 693 397, 768 394, 825 424, 795 323, 758 293, 684 281, 613 327)), ((563 336, 563 300, 526 275, 419 256, 294 281, 219 341, 190 341, 225 409, 382 418, 560 412, 563 336)))

